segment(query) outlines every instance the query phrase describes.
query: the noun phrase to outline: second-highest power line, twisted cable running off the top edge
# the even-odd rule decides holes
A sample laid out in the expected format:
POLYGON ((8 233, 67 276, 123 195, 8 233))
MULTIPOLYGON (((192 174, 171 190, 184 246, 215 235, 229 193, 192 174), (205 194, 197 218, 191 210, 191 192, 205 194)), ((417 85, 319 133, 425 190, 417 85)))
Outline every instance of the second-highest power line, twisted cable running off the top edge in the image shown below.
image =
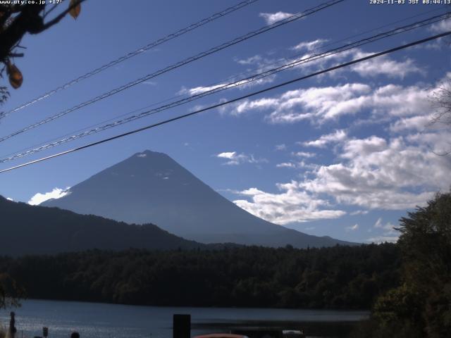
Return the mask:
POLYGON ((175 68, 179 68, 179 67, 181 67, 183 65, 186 65, 188 63, 192 63, 193 61, 197 61, 200 58, 204 58, 205 56, 209 56, 210 54, 214 54, 217 51, 221 51, 223 49, 226 49, 229 46, 233 46, 235 44, 243 42, 243 41, 245 41, 247 39, 250 39, 251 37, 255 37, 255 36, 260 35, 260 34, 262 34, 264 32, 268 32, 269 30, 273 30, 276 27, 280 27, 282 25, 286 25, 287 23, 291 23, 291 22, 293 22, 295 20, 299 20, 300 18, 304 18, 307 15, 311 15, 311 14, 316 13, 318 11, 321 11, 321 10, 323 10, 325 8, 328 8, 330 6, 338 4, 338 3, 342 2, 342 1, 345 1, 345 0, 331 0, 331 1, 327 1, 327 2, 325 2, 323 4, 320 4, 319 6, 307 9, 307 11, 304 11, 304 12, 300 12, 300 13, 297 13, 297 14, 294 14, 294 15, 290 15, 290 17, 288 17, 288 18, 285 18, 283 20, 279 20, 276 23, 273 23, 271 25, 267 25, 267 26, 261 27, 259 30, 254 30, 252 32, 249 32, 246 35, 242 35, 241 37, 237 37, 237 38, 235 38, 233 40, 230 40, 228 42, 225 42, 223 44, 215 46, 215 47, 213 47, 213 48, 211 48, 211 49, 209 49, 207 51, 203 51, 202 53, 199 53, 199 54, 197 54, 195 56, 191 56, 190 58, 185 58, 185 60, 183 60, 183 61, 179 61, 178 63, 175 63, 173 65, 169 65, 166 68, 163 68, 161 70, 157 70, 156 72, 154 72, 152 74, 146 75, 144 77, 140 77, 139 79, 137 79, 135 81, 129 82, 128 84, 124 84, 121 87, 112 89, 109 92, 106 92, 104 94, 96 96, 94 99, 90 99, 89 101, 85 101, 85 102, 83 102, 81 104, 78 104, 77 106, 73 106, 72 108, 66 109, 66 111, 61 111, 60 113, 57 113, 56 115, 52 115, 49 118, 45 118, 44 120, 41 120, 41 121, 39 121, 37 123, 29 125, 29 126, 23 128, 21 130, 17 130, 16 132, 13 132, 12 134, 8 134, 8 135, 6 135, 4 137, 0 137, 0 142, 4 142, 6 139, 10 139, 11 137, 14 137, 14 136, 16 136, 18 134, 21 134, 23 132, 27 132, 28 130, 32 130, 35 127, 39 127, 40 125, 44 125, 46 123, 49 123, 49 122, 51 122, 53 120, 56 120, 57 118, 61 118, 62 116, 67 115, 68 113, 72 113, 73 111, 76 111, 76 110, 78 110, 78 109, 80 109, 82 107, 88 106, 89 104, 94 104, 94 102, 100 101, 101 99, 106 99, 109 96, 112 96, 114 94, 118 94, 119 92, 122 92, 125 89, 133 87, 133 86, 135 86, 137 84, 140 84, 140 83, 142 83, 144 81, 150 80, 150 79, 152 79, 154 77, 157 77, 159 75, 162 75, 164 73, 167 73, 167 72, 169 72, 171 70, 174 70, 175 68))

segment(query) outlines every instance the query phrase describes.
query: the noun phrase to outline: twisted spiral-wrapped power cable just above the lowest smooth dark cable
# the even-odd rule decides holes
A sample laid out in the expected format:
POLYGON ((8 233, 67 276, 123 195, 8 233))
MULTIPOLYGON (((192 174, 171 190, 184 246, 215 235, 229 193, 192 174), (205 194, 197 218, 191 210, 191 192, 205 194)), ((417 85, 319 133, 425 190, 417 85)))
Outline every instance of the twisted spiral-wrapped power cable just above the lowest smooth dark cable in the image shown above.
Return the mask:
MULTIPOLYGON (((440 20, 445 20, 445 19, 450 18, 450 17, 451 17, 451 12, 443 13, 441 15, 435 15, 435 16, 433 16, 431 18, 420 20, 420 21, 417 21, 415 23, 411 23, 409 25, 405 25, 405 26, 402 26, 402 27, 397 27, 397 28, 395 28, 393 30, 389 30, 388 32, 382 32, 382 33, 379 33, 377 35, 373 35, 372 37, 366 37, 364 39, 360 39, 357 42, 352 42, 352 43, 349 43, 349 44, 345 44, 344 46, 337 47, 335 49, 330 49, 329 51, 325 51, 325 52, 323 52, 321 54, 315 54, 315 55, 309 56, 308 58, 301 58, 301 59, 295 58, 294 60, 290 61, 289 63, 285 63, 283 65, 280 65, 280 66, 276 67, 276 68, 271 68, 271 69, 268 69, 268 70, 266 70, 264 72, 257 73, 257 74, 251 75, 249 77, 245 77, 245 78, 242 78, 240 80, 236 80, 234 82, 230 82, 230 83, 227 83, 227 84, 219 84, 219 85, 213 86, 212 89, 206 90, 205 92, 201 92, 199 94, 194 94, 192 96, 185 97, 184 99, 180 99, 178 101, 173 101, 173 102, 171 102, 169 104, 165 104, 163 106, 159 106, 157 108, 153 108, 153 109, 150 109, 148 111, 144 111, 144 112, 136 114, 136 115, 131 115, 128 118, 123 118, 122 120, 116 120, 113 123, 109 123, 109 124, 106 124, 106 125, 101 125, 100 127, 95 127, 94 129, 86 130, 86 131, 81 132, 79 134, 71 135, 70 137, 66 137, 66 138, 63 138, 63 139, 58 139, 55 142, 51 142, 49 144, 44 144, 44 145, 39 146, 37 148, 30 149, 30 150, 21 152, 19 154, 14 154, 13 156, 2 158, 2 159, 0 159, 0 163, 5 163, 7 161, 12 161, 12 160, 14 160, 16 158, 21 158, 21 157, 24 157, 24 156, 28 156, 28 155, 35 154, 35 153, 40 152, 40 151, 44 151, 44 150, 53 148, 54 146, 59 146, 61 144, 65 144, 67 142, 72 142, 75 139, 80 139, 82 137, 86 137, 86 136, 89 136, 91 134, 96 134, 97 132, 108 130, 108 129, 112 128, 112 127, 118 127, 119 125, 123 125, 125 123, 129 123, 129 122, 132 122, 134 120, 137 120, 137 119, 140 119, 140 118, 144 118, 144 117, 147 117, 149 115, 153 115, 155 113, 159 113, 161 111, 166 111, 166 110, 168 110, 170 108, 175 108, 176 106, 181 106, 182 104, 187 104, 187 103, 189 103, 191 101, 200 99, 200 98, 202 98, 204 96, 208 96, 208 95, 211 95, 211 94, 216 94, 217 92, 222 92, 223 90, 226 90, 226 89, 230 89, 230 88, 233 88, 233 87, 239 87, 239 86, 242 86, 242 85, 254 82, 254 81, 258 81, 258 80, 263 79, 264 77, 268 77, 268 76, 274 75, 276 73, 280 73, 283 70, 288 70, 290 68, 297 67, 297 66, 302 65, 304 63, 309 63, 311 61, 316 61, 316 60, 319 60, 321 58, 326 58, 328 56, 332 56, 334 54, 338 54, 338 53, 341 53, 343 51, 348 51, 350 49, 354 49, 357 46, 363 46, 365 44, 369 44, 371 42, 375 42, 375 41, 378 41, 380 39, 385 39, 385 38, 393 36, 393 35, 397 35, 397 34, 400 34, 400 33, 403 33, 403 32, 407 32, 409 30, 413 30, 413 29, 416 29, 416 28, 419 28, 419 27, 424 27, 425 25, 431 25, 431 24, 436 23, 436 22, 438 22, 440 20)), ((141 109, 138 109, 138 110, 135 110, 135 111, 140 111, 140 110, 141 109)), ((125 114, 125 115, 129 115, 129 114, 125 114)))

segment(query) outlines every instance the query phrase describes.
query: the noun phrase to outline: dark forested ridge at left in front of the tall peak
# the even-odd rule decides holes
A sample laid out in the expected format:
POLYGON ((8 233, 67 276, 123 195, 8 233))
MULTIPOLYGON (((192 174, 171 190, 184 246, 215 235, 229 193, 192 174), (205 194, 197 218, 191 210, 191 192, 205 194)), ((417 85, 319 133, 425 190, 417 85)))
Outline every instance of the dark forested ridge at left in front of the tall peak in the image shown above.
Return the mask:
POLYGON ((194 249, 199 244, 156 225, 128 225, 58 208, 29 206, 0 196, 0 255, 51 254, 87 249, 194 249))

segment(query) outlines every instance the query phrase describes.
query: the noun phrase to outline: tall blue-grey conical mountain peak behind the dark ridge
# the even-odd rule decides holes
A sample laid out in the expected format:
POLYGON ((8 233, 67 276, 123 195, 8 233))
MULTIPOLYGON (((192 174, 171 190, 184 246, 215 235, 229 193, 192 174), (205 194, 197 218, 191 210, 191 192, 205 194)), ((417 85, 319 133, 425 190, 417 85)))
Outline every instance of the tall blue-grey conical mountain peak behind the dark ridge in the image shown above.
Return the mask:
POLYGON ((166 154, 144 151, 44 202, 75 213, 126 223, 154 223, 204 243, 296 247, 350 244, 316 237, 257 218, 215 192, 166 154))

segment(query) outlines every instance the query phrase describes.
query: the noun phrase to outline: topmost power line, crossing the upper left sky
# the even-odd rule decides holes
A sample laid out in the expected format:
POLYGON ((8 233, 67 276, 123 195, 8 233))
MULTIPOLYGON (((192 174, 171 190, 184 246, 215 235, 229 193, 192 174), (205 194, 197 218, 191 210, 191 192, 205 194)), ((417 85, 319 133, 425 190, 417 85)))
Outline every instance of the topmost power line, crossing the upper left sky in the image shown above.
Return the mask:
POLYGON ((142 46, 139 49, 136 49, 135 51, 130 51, 130 53, 125 54, 124 56, 121 56, 120 58, 116 58, 116 60, 110 61, 109 63, 106 63, 104 65, 101 65, 99 68, 96 68, 94 70, 91 70, 90 72, 81 75, 77 78, 75 78, 74 80, 70 80, 69 82, 66 82, 65 84, 61 84, 61 86, 56 87, 55 89, 50 90, 47 93, 44 93, 40 96, 37 96, 35 99, 32 99, 28 102, 26 102, 25 104, 21 104, 20 106, 13 108, 11 111, 8 111, 6 113, 0 113, 0 120, 2 118, 5 118, 7 115, 14 113, 16 111, 20 111, 20 109, 23 109, 27 106, 30 106, 32 104, 35 104, 38 101, 41 101, 42 99, 47 99, 49 96, 60 92, 63 89, 66 89, 70 86, 72 86, 73 84, 80 82, 82 80, 87 79, 88 77, 92 77, 93 75, 96 75, 108 68, 113 67, 113 65, 117 65, 118 63, 121 63, 125 60, 128 60, 129 58, 132 58, 133 56, 137 56, 139 54, 144 53, 144 51, 148 51, 149 49, 152 49, 156 46, 159 46, 160 44, 163 44, 165 42, 168 42, 172 39, 175 39, 176 37, 180 37, 181 35, 184 35, 187 32, 191 32, 192 30, 195 30, 199 27, 202 27, 203 25, 206 25, 207 23, 211 23, 214 20, 218 19, 218 18, 222 18, 225 15, 228 15, 230 13, 233 13, 235 11, 237 11, 240 8, 243 8, 247 5, 253 4, 254 2, 257 2, 259 0, 245 0, 240 2, 239 4, 236 4, 235 6, 226 8, 225 10, 218 12, 218 13, 214 13, 213 15, 209 16, 208 18, 204 18, 200 21, 198 21, 197 23, 193 23, 185 28, 182 28, 181 30, 178 30, 177 32, 174 32, 172 34, 166 35, 166 37, 162 37, 161 39, 155 40, 154 42, 150 42, 149 44, 147 44, 146 46, 142 46))

